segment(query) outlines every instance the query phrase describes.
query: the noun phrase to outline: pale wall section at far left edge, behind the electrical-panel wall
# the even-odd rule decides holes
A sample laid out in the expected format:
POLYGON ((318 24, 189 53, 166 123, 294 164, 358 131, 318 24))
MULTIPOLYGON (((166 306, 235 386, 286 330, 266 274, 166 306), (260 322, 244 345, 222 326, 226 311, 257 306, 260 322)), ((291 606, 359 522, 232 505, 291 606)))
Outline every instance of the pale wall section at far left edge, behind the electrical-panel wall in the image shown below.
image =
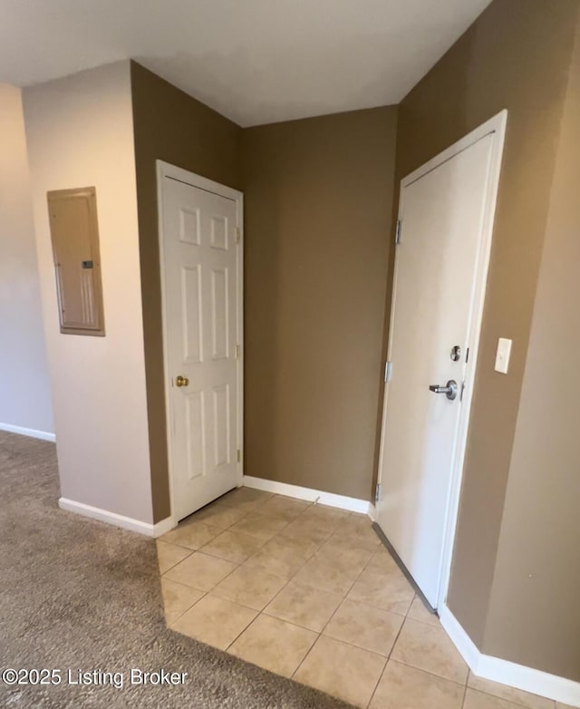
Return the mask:
POLYGON ((0 429, 54 433, 20 89, 0 84, 0 429))

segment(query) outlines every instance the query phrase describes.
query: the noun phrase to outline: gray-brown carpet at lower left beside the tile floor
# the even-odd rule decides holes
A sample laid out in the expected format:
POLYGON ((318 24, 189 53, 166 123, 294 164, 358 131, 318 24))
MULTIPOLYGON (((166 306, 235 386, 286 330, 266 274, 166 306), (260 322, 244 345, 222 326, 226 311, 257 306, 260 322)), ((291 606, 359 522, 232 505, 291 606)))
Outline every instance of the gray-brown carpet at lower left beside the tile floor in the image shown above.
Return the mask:
POLYGON ((154 542, 59 510, 52 443, 0 432, 0 495, 0 669, 125 673, 122 689, 0 683, 0 706, 348 706, 170 631, 154 542), (131 667, 189 678, 129 686, 131 667))

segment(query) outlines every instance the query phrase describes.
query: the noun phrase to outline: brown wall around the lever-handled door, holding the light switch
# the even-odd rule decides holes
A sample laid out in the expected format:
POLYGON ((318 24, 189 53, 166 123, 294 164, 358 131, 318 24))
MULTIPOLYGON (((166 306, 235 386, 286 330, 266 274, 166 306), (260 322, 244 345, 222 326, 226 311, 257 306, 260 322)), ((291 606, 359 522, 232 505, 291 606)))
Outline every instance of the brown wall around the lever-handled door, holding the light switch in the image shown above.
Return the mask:
MULTIPOLYGON (((448 599, 479 647, 488 616, 577 9, 577 0, 495 0, 400 106, 399 179, 501 109, 509 112, 448 599), (514 342, 507 375, 493 371, 500 336, 514 342)), ((494 645, 489 636, 486 643, 494 645)))

